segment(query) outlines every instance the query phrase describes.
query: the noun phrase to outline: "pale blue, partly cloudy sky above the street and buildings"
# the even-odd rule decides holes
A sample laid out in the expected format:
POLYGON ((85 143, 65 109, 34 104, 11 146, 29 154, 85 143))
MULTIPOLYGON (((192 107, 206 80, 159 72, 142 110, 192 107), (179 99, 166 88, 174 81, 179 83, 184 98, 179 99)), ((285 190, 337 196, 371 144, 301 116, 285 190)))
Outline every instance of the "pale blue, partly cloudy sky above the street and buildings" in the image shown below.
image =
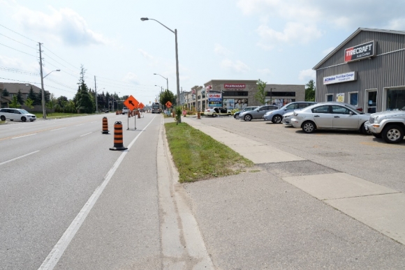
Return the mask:
POLYGON ((94 89, 149 103, 160 87, 209 80, 306 84, 316 63, 358 27, 405 31, 405 1, 0 0, 0 82, 35 82, 43 43, 45 89, 73 98, 80 65, 94 89), (24 72, 21 72, 23 70, 24 72), (9 80, 6 80, 9 79, 9 80), (159 87, 155 87, 158 85, 159 87))

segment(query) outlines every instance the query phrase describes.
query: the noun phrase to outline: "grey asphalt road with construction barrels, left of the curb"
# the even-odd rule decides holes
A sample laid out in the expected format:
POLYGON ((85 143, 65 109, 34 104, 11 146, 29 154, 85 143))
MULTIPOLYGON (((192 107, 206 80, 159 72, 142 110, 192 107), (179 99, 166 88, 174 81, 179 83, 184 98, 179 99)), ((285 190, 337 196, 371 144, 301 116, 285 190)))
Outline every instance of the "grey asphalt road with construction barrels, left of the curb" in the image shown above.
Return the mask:
MULTIPOLYGON (((109 172, 110 184, 78 232, 80 237, 86 230, 89 233, 71 243, 84 248, 71 256, 67 249, 57 267, 88 269, 83 268, 80 256, 94 266, 92 269, 136 265, 139 260, 133 253, 142 260, 146 253, 159 259, 156 143, 161 118, 155 116, 145 114, 136 119, 137 130, 126 130, 127 117, 115 114, 1 125, 0 269, 38 269, 109 172), (101 134, 103 117, 108 117, 109 135, 101 134), (139 135, 119 166, 115 163, 122 152, 109 150, 115 121, 123 123, 124 147, 139 135), (87 227, 91 220, 100 218, 109 222, 87 227), (117 227, 126 233, 120 234, 117 227), (125 241, 111 241, 117 246, 100 250, 103 245, 89 234, 101 242, 111 238, 125 241), (84 241, 89 238, 91 241, 84 241), (131 250, 131 254, 123 250, 131 250)), ((134 126, 131 118, 130 128, 134 126)), ((160 266, 158 259, 148 262, 150 269, 160 266)))

